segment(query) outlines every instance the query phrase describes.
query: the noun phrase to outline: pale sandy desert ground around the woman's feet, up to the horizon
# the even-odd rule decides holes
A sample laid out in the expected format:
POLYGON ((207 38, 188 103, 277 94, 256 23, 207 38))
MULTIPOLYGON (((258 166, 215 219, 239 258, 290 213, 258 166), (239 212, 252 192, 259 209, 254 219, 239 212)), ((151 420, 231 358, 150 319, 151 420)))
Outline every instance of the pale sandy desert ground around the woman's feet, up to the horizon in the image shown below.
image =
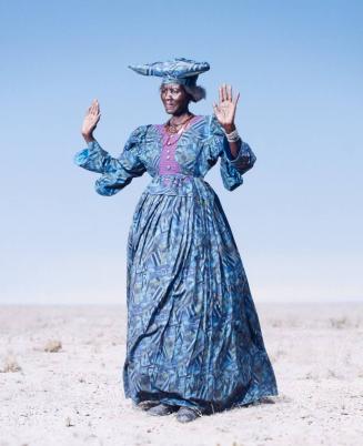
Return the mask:
POLYGON ((363 303, 255 304, 280 395, 190 424, 124 399, 124 306, 0 307, 0 445, 362 445, 363 303))

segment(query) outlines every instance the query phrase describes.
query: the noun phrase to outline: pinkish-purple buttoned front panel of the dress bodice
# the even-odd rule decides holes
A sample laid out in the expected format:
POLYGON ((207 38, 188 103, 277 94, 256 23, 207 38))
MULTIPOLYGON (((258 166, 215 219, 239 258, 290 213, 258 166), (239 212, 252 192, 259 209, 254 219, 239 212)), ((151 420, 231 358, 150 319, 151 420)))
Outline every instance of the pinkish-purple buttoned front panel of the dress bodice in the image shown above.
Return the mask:
MULTIPOLYGON (((193 116, 185 130, 194 122, 199 121, 203 116, 196 115, 193 116)), ((178 174, 181 173, 181 166, 175 160, 175 150, 178 145, 178 141, 181 138, 181 134, 170 134, 167 132, 164 125, 162 124, 157 124, 157 129, 162 135, 162 151, 160 155, 160 162, 159 162, 159 174, 160 175, 169 175, 169 174, 178 174)), ((184 130, 184 131, 185 131, 184 130)))

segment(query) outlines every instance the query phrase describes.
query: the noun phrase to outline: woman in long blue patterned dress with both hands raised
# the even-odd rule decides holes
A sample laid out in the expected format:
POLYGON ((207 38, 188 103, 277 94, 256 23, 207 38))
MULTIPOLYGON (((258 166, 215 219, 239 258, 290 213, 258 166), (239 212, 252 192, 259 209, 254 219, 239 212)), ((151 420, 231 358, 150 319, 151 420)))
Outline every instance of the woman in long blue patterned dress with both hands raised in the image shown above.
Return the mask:
POLYGON ((137 128, 119 158, 93 138, 93 101, 78 165, 101 176, 95 190, 113 195, 148 172, 128 241, 128 339, 122 371, 127 398, 150 415, 177 413, 181 423, 202 414, 278 395, 242 261, 206 172, 220 161, 224 186, 242 184, 255 155, 234 124, 239 95, 223 84, 213 115, 194 115, 190 102, 206 62, 183 58, 130 67, 162 78, 164 124, 137 128))

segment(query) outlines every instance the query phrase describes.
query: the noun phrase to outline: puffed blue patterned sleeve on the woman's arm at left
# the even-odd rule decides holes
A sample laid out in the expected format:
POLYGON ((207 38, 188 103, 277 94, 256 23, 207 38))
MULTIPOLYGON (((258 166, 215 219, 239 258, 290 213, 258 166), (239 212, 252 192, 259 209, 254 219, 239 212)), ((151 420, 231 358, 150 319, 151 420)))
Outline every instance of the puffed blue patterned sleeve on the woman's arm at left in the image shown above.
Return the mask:
POLYGON ((114 195, 131 183, 135 176, 141 176, 145 168, 139 159, 145 134, 145 125, 135 129, 129 136, 122 153, 113 158, 101 148, 98 141, 91 141, 88 146, 74 155, 74 163, 80 168, 101 173, 95 181, 95 191, 100 195, 114 195))

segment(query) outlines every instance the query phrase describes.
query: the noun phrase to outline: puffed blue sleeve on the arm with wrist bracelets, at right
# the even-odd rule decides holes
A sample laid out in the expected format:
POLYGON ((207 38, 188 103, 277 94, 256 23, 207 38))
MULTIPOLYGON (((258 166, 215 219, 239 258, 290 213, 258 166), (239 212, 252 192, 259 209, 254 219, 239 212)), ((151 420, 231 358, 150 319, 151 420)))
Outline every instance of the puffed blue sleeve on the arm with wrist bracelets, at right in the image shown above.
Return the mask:
POLYGON ((255 154, 242 141, 236 158, 233 158, 225 133, 214 114, 209 119, 208 143, 212 154, 221 156, 220 172, 224 187, 233 191, 243 183, 242 175, 252 169, 256 161, 255 154))

